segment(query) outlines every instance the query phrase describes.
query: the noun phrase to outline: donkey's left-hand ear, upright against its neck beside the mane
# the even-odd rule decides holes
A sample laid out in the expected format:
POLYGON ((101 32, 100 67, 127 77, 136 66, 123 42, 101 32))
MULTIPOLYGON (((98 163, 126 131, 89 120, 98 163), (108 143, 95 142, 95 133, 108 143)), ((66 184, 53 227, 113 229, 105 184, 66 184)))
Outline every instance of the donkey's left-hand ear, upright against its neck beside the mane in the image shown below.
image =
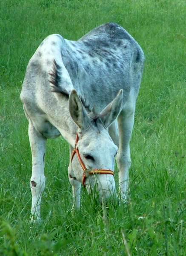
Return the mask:
POLYGON ((89 125, 89 116, 77 95, 76 90, 72 90, 69 96, 69 111, 74 123, 80 128, 86 128, 89 125))

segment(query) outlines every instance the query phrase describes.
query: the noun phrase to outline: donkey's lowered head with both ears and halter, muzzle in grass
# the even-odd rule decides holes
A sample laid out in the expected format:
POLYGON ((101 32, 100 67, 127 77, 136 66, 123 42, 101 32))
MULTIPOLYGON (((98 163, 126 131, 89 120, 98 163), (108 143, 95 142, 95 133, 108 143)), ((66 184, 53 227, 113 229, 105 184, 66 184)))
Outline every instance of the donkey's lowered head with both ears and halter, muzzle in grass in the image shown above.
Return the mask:
POLYGON ((123 90, 120 90, 101 113, 92 115, 87 113, 75 90, 69 96, 70 115, 78 128, 69 175, 80 182, 83 179, 88 192, 95 187, 100 200, 109 198, 115 191, 113 174, 117 146, 109 136, 108 128, 119 115, 122 101, 123 90))

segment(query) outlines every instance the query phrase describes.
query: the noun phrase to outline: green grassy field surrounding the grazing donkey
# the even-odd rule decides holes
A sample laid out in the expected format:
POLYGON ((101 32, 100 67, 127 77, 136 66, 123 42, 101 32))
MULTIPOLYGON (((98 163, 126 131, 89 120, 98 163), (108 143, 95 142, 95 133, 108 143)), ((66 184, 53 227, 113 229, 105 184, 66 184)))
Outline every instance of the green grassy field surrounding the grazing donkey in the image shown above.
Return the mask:
POLYGON ((186 255, 185 14, 184 0, 0 1, 0 255, 186 255), (109 21, 146 55, 129 202, 102 209, 82 189, 72 214, 68 144, 49 140, 43 221, 30 226, 31 151, 19 99, 26 65, 47 35, 76 40, 109 21))

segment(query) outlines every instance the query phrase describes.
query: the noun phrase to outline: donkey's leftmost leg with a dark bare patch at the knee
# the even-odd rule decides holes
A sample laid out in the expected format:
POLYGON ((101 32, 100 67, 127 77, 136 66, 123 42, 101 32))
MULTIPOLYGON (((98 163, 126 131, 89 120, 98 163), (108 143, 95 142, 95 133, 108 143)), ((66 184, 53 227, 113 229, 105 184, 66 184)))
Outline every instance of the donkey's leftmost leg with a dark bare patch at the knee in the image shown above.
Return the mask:
POLYGON ((32 220, 39 220, 41 195, 45 188, 44 157, 46 139, 36 131, 31 121, 29 121, 29 141, 32 154, 32 174, 30 179, 32 194, 31 218, 32 220))

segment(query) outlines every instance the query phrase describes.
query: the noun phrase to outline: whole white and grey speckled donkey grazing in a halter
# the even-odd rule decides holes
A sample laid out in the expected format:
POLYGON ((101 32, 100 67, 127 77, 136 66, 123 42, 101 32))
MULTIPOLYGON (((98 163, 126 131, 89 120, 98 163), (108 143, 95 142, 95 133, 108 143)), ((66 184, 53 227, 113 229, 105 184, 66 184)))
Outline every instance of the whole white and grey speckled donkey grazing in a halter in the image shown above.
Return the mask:
POLYGON ((99 26, 78 41, 49 35, 37 48, 20 94, 29 121, 34 218, 40 218, 45 187, 46 140, 60 135, 70 145, 75 208, 80 207, 81 182, 88 192, 96 185, 100 200, 114 194, 116 155, 120 195, 126 199, 143 62, 139 44, 115 23, 99 26))

